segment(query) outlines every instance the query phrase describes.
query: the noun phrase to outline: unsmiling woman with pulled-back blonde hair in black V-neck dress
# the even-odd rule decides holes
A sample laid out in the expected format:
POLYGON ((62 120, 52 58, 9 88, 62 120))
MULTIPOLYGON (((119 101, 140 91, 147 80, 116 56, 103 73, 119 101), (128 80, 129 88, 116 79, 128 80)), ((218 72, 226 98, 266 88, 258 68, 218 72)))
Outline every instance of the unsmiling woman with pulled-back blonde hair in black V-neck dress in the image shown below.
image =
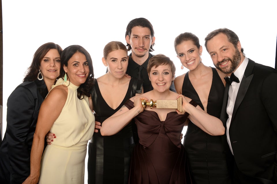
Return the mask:
MULTIPOLYGON (((128 66, 126 46, 109 42, 103 51, 105 75, 95 79, 92 103, 95 120, 102 122, 142 89, 142 81, 124 76, 128 66)), ((94 132, 89 142, 88 183, 128 183, 131 152, 134 148, 132 125, 129 123, 115 135, 102 136, 94 132)))

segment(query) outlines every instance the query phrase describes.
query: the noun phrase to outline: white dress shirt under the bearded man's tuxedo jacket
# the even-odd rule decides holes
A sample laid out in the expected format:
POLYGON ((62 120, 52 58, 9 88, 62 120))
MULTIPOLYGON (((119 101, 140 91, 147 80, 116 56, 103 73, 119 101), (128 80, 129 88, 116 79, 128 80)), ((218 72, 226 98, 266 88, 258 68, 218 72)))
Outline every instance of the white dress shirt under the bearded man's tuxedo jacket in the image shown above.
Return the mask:
MULTIPOLYGON (((248 64, 248 58, 245 57, 244 60, 242 61, 242 64, 240 64, 239 67, 237 68, 237 70, 234 72, 235 76, 239 79, 239 83, 236 83, 233 81, 229 87, 229 92, 228 92, 228 103, 227 103, 227 108, 226 108, 226 112, 228 114, 228 119, 227 119, 227 123, 226 123, 226 126, 227 126, 226 135, 227 135, 227 142, 229 144, 229 147, 230 147, 233 155, 234 155, 234 153, 233 153, 232 146, 231 146, 231 141, 230 141, 230 136, 229 136, 229 128, 230 128, 230 124, 231 124, 235 101, 237 98, 237 92, 239 90, 239 85, 241 84, 242 77, 244 75, 244 71, 246 69, 247 64, 248 64)), ((230 78, 230 76, 228 76, 228 77, 230 78)))

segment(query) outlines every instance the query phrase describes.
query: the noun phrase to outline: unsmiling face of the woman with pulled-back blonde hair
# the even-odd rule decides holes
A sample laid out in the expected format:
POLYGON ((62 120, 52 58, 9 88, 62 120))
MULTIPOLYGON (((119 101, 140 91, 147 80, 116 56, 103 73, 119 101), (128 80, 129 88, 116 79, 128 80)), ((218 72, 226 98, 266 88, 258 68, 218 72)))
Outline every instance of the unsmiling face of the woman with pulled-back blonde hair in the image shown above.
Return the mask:
POLYGON ((121 79, 126 73, 128 66, 128 55, 125 50, 118 49, 110 52, 102 62, 108 67, 108 72, 114 77, 121 79))

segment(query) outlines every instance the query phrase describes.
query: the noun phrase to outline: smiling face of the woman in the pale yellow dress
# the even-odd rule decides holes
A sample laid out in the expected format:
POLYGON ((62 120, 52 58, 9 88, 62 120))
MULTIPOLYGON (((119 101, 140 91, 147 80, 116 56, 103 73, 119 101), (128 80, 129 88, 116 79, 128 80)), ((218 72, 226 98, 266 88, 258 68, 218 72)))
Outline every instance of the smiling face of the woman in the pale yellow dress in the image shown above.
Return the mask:
POLYGON ((63 65, 64 71, 67 73, 69 81, 75 86, 85 83, 89 75, 89 65, 85 54, 76 52, 68 60, 67 67, 63 65))

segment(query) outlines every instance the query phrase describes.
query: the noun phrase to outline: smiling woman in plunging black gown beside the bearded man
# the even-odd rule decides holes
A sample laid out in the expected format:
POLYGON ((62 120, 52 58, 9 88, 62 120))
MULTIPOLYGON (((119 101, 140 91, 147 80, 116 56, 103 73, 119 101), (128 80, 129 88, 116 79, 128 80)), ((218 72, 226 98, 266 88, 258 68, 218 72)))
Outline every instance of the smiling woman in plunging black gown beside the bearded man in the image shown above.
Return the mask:
MULTIPOLYGON (((192 33, 182 33, 174 42, 177 57, 189 71, 176 77, 176 92, 194 100, 209 115, 220 117, 226 76, 202 63, 202 46, 192 33)), ((191 121, 184 146, 196 184, 230 183, 221 136, 211 136, 191 121)))

